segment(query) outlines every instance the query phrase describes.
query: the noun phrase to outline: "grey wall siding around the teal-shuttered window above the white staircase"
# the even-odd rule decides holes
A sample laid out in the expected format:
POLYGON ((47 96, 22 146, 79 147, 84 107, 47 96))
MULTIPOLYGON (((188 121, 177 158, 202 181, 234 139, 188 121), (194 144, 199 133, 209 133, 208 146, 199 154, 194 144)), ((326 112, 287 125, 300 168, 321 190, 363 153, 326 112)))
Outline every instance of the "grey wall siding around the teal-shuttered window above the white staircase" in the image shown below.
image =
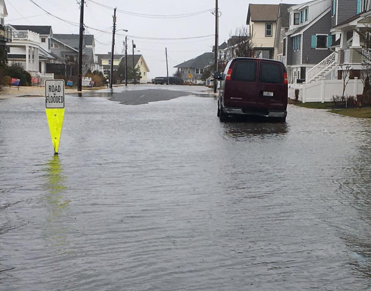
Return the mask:
POLYGON ((330 34, 331 12, 326 13, 315 24, 303 33, 303 64, 317 64, 325 59, 331 51, 329 49, 312 49, 312 35, 330 34))

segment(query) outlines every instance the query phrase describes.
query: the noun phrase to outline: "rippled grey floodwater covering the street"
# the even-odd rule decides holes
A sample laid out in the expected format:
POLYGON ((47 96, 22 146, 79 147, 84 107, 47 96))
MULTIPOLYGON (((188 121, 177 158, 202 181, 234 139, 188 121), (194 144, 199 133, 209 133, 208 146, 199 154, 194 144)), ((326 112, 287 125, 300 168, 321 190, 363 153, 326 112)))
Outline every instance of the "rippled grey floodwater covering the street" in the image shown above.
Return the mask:
POLYGON ((0 290, 370 290, 370 121, 177 90, 66 97, 59 156, 43 98, 0 100, 0 290))

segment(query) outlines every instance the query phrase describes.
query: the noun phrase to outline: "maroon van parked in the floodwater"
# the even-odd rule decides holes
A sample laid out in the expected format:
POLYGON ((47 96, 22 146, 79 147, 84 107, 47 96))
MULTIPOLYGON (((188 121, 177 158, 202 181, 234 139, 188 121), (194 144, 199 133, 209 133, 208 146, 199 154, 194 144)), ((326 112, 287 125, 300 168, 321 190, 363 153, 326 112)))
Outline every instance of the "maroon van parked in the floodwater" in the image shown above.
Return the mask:
POLYGON ((286 121, 287 73, 282 62, 234 58, 224 73, 216 72, 221 80, 218 98, 218 117, 229 115, 258 115, 271 120, 286 121))

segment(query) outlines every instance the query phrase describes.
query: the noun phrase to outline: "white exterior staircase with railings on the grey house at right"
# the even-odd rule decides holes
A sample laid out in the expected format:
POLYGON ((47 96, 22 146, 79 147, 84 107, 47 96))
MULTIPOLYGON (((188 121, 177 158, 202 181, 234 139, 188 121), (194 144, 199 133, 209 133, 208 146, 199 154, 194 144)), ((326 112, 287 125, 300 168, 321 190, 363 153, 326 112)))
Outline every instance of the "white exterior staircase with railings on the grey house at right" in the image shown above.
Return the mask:
POLYGON ((306 81, 307 83, 316 82, 321 80, 322 78, 326 78, 328 80, 336 79, 336 71, 338 68, 337 60, 337 53, 333 52, 331 55, 327 56, 317 65, 315 65, 312 69, 308 71, 308 78, 306 81))

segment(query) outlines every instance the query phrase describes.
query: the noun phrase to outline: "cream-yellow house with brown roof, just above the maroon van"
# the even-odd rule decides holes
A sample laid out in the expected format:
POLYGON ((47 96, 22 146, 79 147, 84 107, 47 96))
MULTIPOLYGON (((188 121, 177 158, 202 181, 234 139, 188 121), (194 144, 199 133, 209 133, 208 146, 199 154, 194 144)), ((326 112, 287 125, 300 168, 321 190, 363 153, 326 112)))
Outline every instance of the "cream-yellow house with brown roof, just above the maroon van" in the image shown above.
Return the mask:
POLYGON ((278 8, 273 4, 249 4, 246 24, 258 58, 274 57, 278 8))

